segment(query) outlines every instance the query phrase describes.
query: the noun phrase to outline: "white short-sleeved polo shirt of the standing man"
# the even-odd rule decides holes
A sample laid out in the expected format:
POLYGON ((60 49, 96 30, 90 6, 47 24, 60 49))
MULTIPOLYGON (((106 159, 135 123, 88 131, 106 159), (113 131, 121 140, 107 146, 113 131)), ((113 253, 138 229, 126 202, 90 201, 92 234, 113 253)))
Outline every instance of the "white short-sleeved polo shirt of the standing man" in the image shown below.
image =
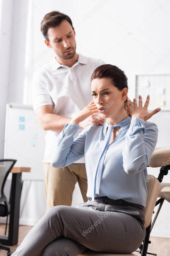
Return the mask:
MULTIPOLYGON (((38 69, 32 79, 32 99, 34 111, 44 105, 53 105, 54 114, 73 118, 85 106, 93 101, 90 77, 100 65, 106 64, 100 59, 90 58, 78 53, 77 62, 70 68, 61 65, 54 57, 44 67, 38 69)), ((77 138, 83 128, 74 135, 77 138)), ((47 131, 45 136, 46 156, 52 156, 59 133, 47 131)), ((84 157, 75 163, 85 163, 84 157)))

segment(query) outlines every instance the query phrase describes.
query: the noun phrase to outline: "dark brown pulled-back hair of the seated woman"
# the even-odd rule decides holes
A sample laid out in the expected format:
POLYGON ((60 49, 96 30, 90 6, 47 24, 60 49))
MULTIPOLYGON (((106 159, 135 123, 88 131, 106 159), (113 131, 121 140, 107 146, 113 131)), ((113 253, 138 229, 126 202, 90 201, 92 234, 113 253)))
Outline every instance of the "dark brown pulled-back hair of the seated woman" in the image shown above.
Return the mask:
MULTIPOLYGON (((97 67, 92 76, 90 77, 90 81, 92 81, 95 78, 110 78, 111 83, 118 89, 122 90, 123 88, 127 88, 127 77, 125 75, 125 72, 121 70, 120 68, 111 65, 111 64, 104 64, 99 67, 97 67)), ((127 99, 124 101, 124 104, 126 104, 127 99)))

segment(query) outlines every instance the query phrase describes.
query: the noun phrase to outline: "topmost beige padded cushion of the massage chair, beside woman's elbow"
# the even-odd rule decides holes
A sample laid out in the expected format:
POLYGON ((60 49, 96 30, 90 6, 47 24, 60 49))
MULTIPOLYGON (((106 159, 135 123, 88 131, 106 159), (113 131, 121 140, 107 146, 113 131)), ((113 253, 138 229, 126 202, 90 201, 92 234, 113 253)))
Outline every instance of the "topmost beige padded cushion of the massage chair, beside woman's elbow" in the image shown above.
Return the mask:
POLYGON ((151 155, 149 166, 161 167, 170 164, 170 147, 157 147, 151 155))

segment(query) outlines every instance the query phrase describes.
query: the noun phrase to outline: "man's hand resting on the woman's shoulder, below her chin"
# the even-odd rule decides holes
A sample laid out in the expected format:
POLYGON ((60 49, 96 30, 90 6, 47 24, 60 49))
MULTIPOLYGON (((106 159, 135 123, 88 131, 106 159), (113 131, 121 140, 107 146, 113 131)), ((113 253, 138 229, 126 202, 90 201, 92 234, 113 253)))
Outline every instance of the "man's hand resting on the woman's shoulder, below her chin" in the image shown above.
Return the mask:
POLYGON ((80 125, 80 128, 85 128, 86 126, 88 126, 90 124, 103 125, 105 120, 106 119, 102 118, 99 113, 94 113, 94 114, 88 116, 88 118, 86 118, 84 121, 80 122, 79 125, 80 125))

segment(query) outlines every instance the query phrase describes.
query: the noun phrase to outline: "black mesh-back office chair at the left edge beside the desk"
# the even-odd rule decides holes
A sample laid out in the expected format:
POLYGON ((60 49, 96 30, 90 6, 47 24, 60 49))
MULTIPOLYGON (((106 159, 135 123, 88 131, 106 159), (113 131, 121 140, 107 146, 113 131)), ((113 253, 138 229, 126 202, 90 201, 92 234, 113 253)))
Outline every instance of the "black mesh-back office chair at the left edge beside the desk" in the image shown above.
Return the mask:
MULTIPOLYGON (((12 167, 17 160, 15 159, 0 159, 0 217, 6 217, 10 213, 10 205, 4 194, 4 186, 12 167)), ((0 249, 8 251, 10 248, 0 243, 0 249)), ((10 255, 10 254, 9 254, 10 255)))

